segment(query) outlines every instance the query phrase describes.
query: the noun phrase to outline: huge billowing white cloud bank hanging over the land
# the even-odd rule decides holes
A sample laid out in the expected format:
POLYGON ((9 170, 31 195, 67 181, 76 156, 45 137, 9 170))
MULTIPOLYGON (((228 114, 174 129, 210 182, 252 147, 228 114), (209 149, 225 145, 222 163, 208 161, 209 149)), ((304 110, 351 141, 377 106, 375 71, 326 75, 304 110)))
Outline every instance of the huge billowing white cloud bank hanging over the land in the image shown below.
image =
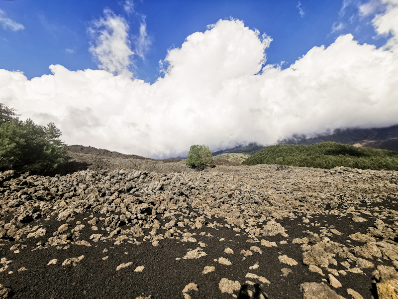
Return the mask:
POLYGON ((374 20, 379 33, 392 36, 388 48, 359 45, 347 34, 327 48, 313 47, 282 70, 264 66, 270 37, 240 20, 219 20, 169 50, 165 76, 153 84, 129 78, 123 70, 130 62, 113 59, 133 51, 123 33, 126 23, 110 15, 98 28, 116 28, 117 40, 98 29, 100 42, 92 50, 103 70, 51 65, 52 75, 31 80, 0 70, 0 102, 36 123, 54 122, 68 144, 159 158, 182 156, 194 144, 212 150, 270 145, 293 134, 394 125, 395 2, 374 20))

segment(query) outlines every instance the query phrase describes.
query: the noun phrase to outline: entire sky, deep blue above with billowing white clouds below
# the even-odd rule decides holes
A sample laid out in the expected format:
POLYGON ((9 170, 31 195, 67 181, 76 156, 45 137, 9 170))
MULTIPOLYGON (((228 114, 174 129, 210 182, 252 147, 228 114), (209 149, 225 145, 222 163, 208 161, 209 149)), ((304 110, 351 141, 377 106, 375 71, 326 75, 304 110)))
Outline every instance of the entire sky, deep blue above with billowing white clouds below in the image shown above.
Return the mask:
POLYGON ((0 0, 0 103, 148 157, 396 125, 398 0, 0 0))

